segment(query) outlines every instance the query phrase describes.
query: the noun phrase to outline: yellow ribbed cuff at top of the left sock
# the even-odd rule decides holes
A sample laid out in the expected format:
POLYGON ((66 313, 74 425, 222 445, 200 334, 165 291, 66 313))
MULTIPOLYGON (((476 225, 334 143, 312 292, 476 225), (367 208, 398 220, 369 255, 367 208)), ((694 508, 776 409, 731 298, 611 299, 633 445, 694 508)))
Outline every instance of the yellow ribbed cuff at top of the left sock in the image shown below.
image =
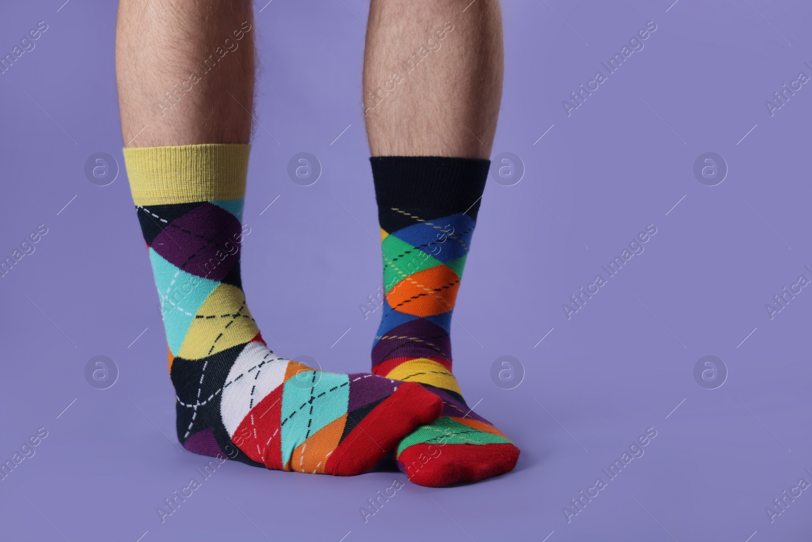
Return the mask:
POLYGON ((251 145, 207 143, 124 149, 138 206, 242 199, 251 145))

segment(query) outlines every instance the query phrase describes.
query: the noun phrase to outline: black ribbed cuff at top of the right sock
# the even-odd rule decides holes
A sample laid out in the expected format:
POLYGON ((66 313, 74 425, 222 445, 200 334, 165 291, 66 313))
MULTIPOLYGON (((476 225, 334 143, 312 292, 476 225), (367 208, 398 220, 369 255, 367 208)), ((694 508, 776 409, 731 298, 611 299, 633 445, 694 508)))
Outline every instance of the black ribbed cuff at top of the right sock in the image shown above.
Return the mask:
MULTIPOLYGON (((442 156, 374 156, 372 177, 378 218, 391 207, 477 212, 488 178, 490 160, 442 156)), ((381 220, 383 223, 383 220, 381 220)))

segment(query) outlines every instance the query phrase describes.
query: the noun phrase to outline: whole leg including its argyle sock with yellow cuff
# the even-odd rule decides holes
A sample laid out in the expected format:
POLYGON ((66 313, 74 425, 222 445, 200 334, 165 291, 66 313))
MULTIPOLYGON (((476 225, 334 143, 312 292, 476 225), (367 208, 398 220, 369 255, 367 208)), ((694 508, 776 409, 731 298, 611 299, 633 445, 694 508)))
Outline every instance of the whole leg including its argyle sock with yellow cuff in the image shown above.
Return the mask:
POLYGON ((313 371, 262 340, 240 281, 251 20, 249 0, 121 3, 124 158, 161 300, 178 440, 219 462, 356 475, 437 419, 443 401, 420 384, 313 371))

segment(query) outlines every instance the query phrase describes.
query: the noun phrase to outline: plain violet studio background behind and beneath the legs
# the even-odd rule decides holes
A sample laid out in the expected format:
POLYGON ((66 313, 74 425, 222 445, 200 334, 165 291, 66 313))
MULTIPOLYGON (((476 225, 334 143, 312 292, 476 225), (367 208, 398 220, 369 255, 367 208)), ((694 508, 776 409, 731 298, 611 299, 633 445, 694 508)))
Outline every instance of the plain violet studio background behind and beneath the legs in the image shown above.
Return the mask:
MULTIPOLYGON (((511 473, 482 483, 406 482, 366 523, 359 508, 405 475, 305 476, 227 462, 160 522, 158 505, 200 478, 207 460, 166 438, 175 442, 173 390, 123 171, 116 5, 3 5, 3 54, 37 21, 49 29, 0 76, 0 256, 37 224, 49 232, 0 279, 0 458, 37 427, 49 436, 0 482, 0 536, 809 540, 812 494, 772 523, 765 507, 801 477, 812 481, 812 293, 804 288, 772 320, 765 304, 801 273, 812 277, 803 267, 812 266, 812 90, 804 85, 772 117, 764 102, 798 72, 812 75, 812 7, 672 1, 503 2, 494 156, 518 155, 525 175, 486 187, 452 336, 469 403, 482 400, 477 413, 521 456, 511 473), (649 20, 658 28, 645 49, 568 117, 562 100, 649 20), (693 176, 707 151, 729 167, 713 187, 693 176), (105 187, 84 176, 97 152, 121 168, 105 187), (649 223, 658 232, 645 252, 566 319, 561 305, 649 223), (100 354, 120 371, 106 390, 84 379, 100 354), (693 378, 709 354, 729 371, 713 390, 693 378), (490 378, 503 355, 524 366, 512 390, 490 378), (605 479, 602 467, 647 427, 658 436, 645 455, 568 523, 563 507, 605 479)), ((379 313, 365 320, 359 305, 381 280, 359 105, 368 2, 263 3, 244 287, 274 350, 365 371, 379 313), (301 151, 323 167, 309 187, 287 177, 301 151)))

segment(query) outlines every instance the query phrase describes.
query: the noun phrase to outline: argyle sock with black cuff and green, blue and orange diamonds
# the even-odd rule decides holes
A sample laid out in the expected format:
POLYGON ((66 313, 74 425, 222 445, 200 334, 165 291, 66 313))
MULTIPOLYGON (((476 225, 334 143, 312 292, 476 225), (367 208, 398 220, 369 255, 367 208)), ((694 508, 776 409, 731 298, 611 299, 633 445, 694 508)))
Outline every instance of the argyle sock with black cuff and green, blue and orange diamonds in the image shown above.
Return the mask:
POLYGON ((419 382, 443 417, 400 441, 398 466, 439 487, 501 475, 519 449, 466 405, 451 373, 451 312, 471 245, 489 160, 371 158, 383 253, 384 310, 372 371, 419 382))

